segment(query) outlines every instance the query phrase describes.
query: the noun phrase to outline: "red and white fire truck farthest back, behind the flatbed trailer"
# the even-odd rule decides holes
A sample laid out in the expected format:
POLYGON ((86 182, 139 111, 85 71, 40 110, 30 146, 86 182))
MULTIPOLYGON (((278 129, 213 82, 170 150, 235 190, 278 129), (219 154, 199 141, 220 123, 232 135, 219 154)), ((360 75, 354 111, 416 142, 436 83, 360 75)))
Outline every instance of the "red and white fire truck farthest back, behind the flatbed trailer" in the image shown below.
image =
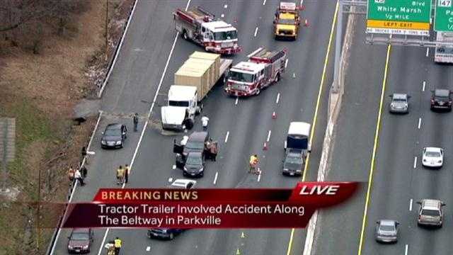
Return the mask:
POLYGON ((178 8, 173 12, 173 20, 175 29, 185 40, 192 40, 205 47, 207 52, 229 55, 241 51, 236 28, 215 19, 212 13, 200 6, 188 11, 178 8))

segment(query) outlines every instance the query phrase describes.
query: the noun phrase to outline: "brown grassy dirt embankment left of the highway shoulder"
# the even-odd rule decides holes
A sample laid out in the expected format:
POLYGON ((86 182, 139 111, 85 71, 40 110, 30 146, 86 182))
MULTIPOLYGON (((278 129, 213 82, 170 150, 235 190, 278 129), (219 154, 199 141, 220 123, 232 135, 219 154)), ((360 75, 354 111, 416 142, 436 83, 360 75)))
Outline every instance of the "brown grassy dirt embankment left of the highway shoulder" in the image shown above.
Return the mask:
MULTIPOLYGON (((74 125, 73 108, 82 98, 94 97, 108 66, 105 1, 46 0, 43 6, 16 8, 18 2, 6 0, 1 11, 9 12, 0 11, 0 117, 16 118, 8 186, 24 203, 0 196, 0 255, 45 254, 54 229, 38 230, 38 213, 28 205, 38 201, 38 187, 40 201, 67 201, 68 166, 79 164, 81 147, 96 123, 93 117, 74 125), (71 6, 56 9, 49 5, 54 2, 71 6), (20 13, 24 10, 28 13, 20 13)), ((132 2, 108 0, 108 60, 132 2)))

